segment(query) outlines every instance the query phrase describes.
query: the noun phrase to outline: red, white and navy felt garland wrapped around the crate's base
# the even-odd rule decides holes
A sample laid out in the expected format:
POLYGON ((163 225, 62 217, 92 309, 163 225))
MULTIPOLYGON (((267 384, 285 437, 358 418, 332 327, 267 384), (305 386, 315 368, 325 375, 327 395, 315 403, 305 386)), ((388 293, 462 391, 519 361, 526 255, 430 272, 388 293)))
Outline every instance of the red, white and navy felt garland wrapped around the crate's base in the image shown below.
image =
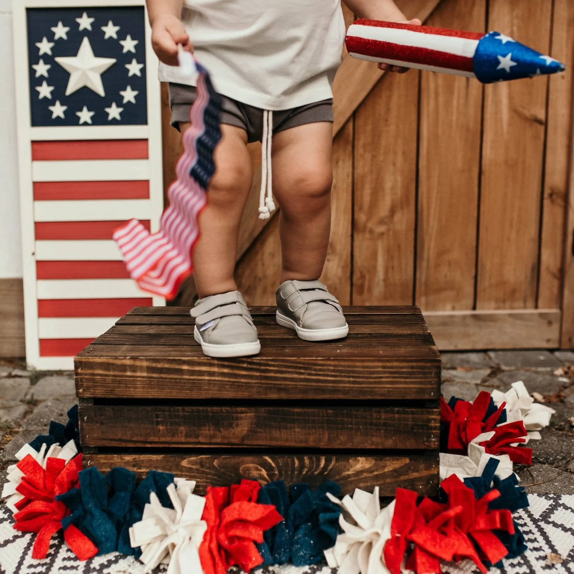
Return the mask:
POLYGON ((528 506, 513 461, 530 464, 523 447, 549 424, 553 409, 534 404, 521 381, 505 394, 480 393, 474 402, 441 400, 439 502, 398 488, 383 509, 379 490, 356 489, 339 501, 340 487, 325 482, 242 480, 193 494, 195 482, 150 471, 114 468, 106 476, 82 470, 77 407, 67 425, 18 451, 2 497, 14 528, 37 534, 34 558, 48 552, 52 534, 64 538, 80 560, 118 551, 133 554, 149 572, 224 574, 267 564, 315 564, 323 557, 340 574, 417 574, 441 571, 440 560, 468 558, 486 572, 503 557, 526 550, 511 513, 528 506), (405 561, 406 559, 406 561, 405 561))

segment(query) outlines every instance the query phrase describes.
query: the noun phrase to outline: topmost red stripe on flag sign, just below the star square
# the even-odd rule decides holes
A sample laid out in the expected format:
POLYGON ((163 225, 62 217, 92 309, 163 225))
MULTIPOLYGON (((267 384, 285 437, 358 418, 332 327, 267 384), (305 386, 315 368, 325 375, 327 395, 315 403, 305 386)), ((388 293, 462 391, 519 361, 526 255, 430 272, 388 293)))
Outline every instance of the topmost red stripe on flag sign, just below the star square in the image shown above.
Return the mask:
POLYGON ((148 157, 147 139, 32 142, 33 160, 142 160, 148 157))

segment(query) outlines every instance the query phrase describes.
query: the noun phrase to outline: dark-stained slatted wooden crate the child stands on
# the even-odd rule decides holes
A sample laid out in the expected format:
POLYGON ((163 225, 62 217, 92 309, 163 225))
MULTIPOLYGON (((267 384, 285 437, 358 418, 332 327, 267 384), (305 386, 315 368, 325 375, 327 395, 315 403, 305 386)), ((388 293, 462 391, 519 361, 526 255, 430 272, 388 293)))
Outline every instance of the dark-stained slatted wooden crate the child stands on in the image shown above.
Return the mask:
POLYGON ((261 353, 205 357, 186 307, 140 307, 75 358, 84 460, 197 480, 436 494, 440 357, 417 307, 348 307, 308 343, 251 310, 261 353))

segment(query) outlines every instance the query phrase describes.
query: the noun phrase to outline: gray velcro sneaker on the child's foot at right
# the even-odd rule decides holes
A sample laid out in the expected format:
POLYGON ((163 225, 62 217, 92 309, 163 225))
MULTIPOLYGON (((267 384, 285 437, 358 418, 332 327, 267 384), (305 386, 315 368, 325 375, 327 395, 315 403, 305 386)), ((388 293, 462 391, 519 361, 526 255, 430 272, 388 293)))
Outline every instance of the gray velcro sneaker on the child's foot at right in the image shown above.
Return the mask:
POLYGON ((347 336, 349 326, 339 301, 320 281, 285 281, 275 293, 277 323, 305 341, 328 341, 347 336))

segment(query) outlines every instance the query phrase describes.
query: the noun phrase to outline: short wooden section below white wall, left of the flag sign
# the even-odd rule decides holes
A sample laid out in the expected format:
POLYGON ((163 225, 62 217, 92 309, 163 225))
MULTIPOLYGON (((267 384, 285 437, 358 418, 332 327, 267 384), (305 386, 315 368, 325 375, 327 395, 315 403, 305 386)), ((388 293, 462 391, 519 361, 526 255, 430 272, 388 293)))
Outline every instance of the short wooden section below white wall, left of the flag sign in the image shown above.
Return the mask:
POLYGON ((22 280, 0 279, 0 356, 25 355, 22 280))

